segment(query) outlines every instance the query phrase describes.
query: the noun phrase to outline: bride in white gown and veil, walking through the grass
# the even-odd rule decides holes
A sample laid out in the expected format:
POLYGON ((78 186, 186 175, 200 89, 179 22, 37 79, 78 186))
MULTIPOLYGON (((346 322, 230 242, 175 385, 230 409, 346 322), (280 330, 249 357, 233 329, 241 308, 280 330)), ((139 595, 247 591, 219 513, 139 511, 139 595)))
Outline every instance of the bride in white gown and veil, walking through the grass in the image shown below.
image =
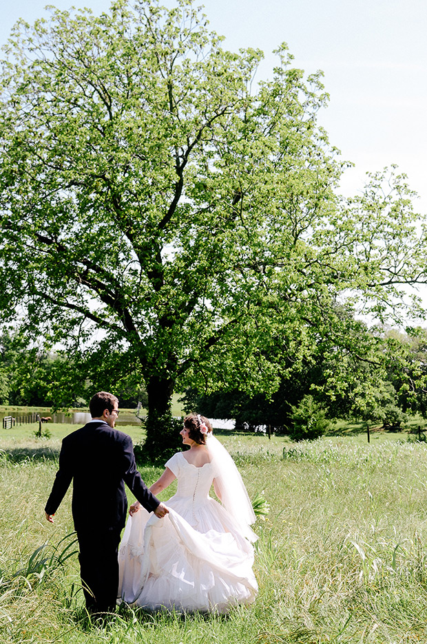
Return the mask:
POLYGON ((212 435, 209 420, 190 414, 180 431, 189 450, 178 452, 150 490, 175 479, 163 519, 136 501, 129 508, 118 553, 122 601, 147 610, 227 612, 251 603, 255 515, 236 465, 212 435), (221 504, 209 496, 213 489, 221 504))

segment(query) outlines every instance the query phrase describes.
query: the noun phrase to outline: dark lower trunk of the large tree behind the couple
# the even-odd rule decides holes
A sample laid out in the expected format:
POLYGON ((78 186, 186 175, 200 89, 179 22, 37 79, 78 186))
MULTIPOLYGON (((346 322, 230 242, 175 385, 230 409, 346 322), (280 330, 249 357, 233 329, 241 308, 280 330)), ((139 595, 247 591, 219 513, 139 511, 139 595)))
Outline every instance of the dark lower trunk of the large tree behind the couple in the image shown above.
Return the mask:
POLYGON ((148 416, 147 437, 143 452, 148 460, 167 460, 180 445, 180 419, 172 418, 171 398, 174 393, 174 380, 152 376, 147 383, 148 416))

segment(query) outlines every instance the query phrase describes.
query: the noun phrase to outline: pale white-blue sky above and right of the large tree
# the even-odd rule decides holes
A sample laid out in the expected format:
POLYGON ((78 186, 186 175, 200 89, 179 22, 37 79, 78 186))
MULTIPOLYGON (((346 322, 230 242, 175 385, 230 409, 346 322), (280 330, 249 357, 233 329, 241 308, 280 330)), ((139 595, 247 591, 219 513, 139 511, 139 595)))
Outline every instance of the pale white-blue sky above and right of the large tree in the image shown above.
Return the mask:
MULTIPOLYGON (((0 43, 19 17, 32 22, 45 4, 0 0, 0 43)), ((110 0, 74 5, 100 13, 110 0)), ((225 47, 264 51, 261 78, 271 76, 271 52, 282 41, 296 67, 324 71, 331 100, 319 121, 342 157, 355 163, 342 182, 346 195, 362 189, 366 171, 395 163, 419 194, 416 210, 427 212, 427 0, 205 0, 204 6, 210 28, 226 36, 225 47)))

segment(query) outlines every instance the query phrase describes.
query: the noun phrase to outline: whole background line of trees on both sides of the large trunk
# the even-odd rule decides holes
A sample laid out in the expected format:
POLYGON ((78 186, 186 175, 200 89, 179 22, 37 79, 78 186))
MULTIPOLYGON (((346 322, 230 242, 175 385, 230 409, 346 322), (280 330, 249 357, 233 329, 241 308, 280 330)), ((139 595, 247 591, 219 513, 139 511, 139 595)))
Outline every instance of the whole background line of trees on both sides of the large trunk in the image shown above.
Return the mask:
MULTIPOLYGON (((415 413, 427 418, 427 330, 403 333, 383 328, 371 330, 371 336, 369 361, 360 361, 339 346, 326 351, 320 345, 309 360, 293 365, 272 396, 248 396, 237 387, 209 394, 189 388, 183 406, 211 418, 234 418, 238 427, 270 425, 271 431, 298 439, 320 436, 337 419, 398 429, 415 413)), ((291 361, 285 353, 275 359, 291 361)), ((87 406, 97 388, 90 380, 69 392, 66 401, 57 396, 57 380, 72 369, 72 358, 30 349, 18 333, 3 330, 0 404, 66 407, 74 394, 73 407, 87 406)), ((136 408, 138 402, 147 406, 147 392, 132 378, 113 390, 122 407, 136 408)))

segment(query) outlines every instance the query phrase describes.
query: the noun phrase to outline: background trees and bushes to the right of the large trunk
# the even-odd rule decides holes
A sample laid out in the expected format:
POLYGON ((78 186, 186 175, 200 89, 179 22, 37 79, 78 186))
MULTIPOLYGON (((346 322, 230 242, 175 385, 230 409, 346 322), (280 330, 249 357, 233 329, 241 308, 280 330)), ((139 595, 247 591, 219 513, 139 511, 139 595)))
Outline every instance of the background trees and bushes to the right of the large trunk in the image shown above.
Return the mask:
POLYGON ((240 426, 270 425, 271 431, 298 439, 317 438, 339 419, 399 429, 413 414, 427 418, 426 330, 378 328, 371 330, 371 339, 365 360, 340 346, 326 350, 319 345, 282 378, 272 396, 189 389, 187 404, 212 418, 236 418, 240 426))

